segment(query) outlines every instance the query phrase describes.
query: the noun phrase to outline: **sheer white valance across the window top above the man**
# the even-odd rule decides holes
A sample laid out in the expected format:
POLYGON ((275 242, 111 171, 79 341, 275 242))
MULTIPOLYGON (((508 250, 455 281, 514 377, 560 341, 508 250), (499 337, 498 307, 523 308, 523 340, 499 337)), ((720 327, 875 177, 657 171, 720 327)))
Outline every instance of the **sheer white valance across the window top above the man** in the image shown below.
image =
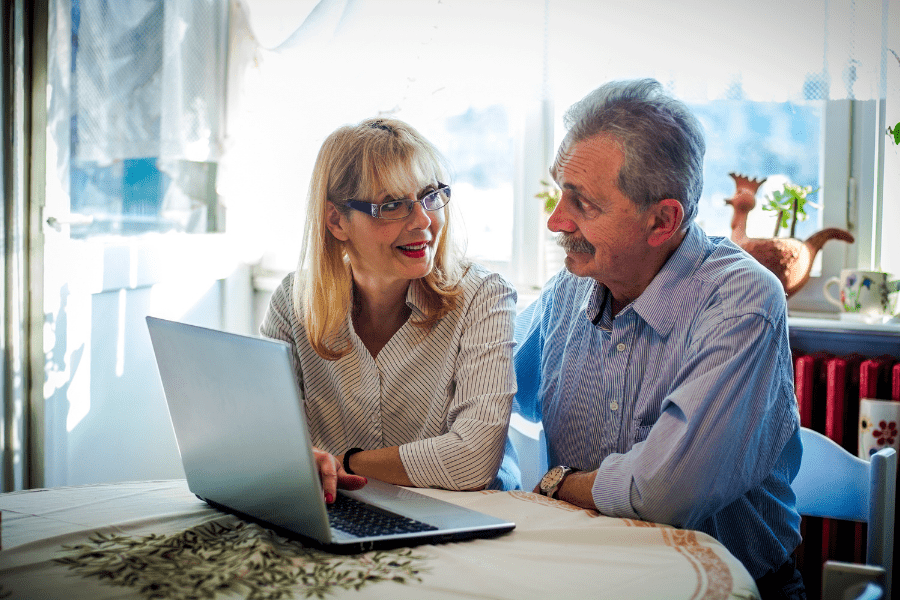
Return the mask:
POLYGON ((551 71, 650 76, 687 100, 871 100, 886 94, 889 0, 550 0, 551 71))

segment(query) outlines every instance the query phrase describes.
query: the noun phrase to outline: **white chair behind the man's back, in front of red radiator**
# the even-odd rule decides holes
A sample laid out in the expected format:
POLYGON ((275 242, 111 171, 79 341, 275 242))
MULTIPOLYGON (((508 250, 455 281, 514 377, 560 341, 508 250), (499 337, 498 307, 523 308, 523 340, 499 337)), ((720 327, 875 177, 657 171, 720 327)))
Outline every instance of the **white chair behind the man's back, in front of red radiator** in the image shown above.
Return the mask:
POLYGON ((890 598, 897 452, 885 448, 866 461, 811 429, 801 428, 800 439, 803 458, 791 484, 798 512, 867 523, 866 564, 884 569, 884 597, 890 598))

